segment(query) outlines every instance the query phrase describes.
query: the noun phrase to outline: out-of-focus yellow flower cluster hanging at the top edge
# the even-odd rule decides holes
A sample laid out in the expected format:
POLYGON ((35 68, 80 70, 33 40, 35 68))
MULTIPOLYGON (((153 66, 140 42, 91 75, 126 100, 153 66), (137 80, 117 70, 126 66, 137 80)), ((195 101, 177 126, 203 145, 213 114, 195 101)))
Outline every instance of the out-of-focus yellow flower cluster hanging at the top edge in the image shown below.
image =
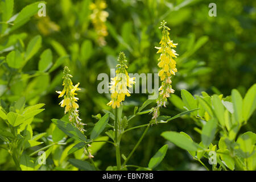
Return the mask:
POLYGON ((100 46, 106 45, 104 37, 108 35, 105 22, 106 18, 109 16, 109 13, 104 11, 105 8, 106 3, 104 0, 96 0, 95 3, 90 5, 90 9, 93 11, 90 18, 92 19, 93 26, 98 35, 98 44, 100 44, 100 46))

